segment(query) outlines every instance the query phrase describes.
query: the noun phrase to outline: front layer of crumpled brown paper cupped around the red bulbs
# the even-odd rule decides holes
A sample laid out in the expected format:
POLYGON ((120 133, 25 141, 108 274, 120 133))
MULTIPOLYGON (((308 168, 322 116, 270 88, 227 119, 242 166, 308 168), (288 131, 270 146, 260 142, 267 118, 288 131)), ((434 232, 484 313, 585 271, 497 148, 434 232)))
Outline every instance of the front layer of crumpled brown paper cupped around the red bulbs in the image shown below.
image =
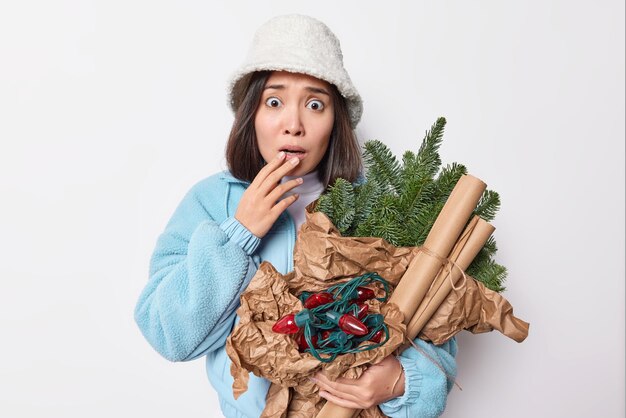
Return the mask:
MULTIPOLYGON (((262 263, 241 295, 237 310, 240 321, 226 343, 226 352, 233 361, 235 398, 247 389, 249 371, 272 381, 263 417, 283 417, 288 407, 289 417, 314 416, 325 401, 317 395, 317 386, 309 376, 323 369, 332 379, 340 375, 358 378, 363 372, 359 366, 377 363, 390 355, 406 332, 402 314, 395 305, 381 306, 378 301, 370 301, 370 312, 385 316, 389 327, 387 344, 376 350, 338 356, 332 363, 321 363, 311 354, 300 353, 293 336, 272 331, 282 316, 302 310, 302 303, 289 287, 294 276, 293 272, 283 276, 270 263, 262 263)), ((325 287, 334 282, 337 281, 329 280, 325 287)), ((372 413, 369 416, 383 416, 372 413)))

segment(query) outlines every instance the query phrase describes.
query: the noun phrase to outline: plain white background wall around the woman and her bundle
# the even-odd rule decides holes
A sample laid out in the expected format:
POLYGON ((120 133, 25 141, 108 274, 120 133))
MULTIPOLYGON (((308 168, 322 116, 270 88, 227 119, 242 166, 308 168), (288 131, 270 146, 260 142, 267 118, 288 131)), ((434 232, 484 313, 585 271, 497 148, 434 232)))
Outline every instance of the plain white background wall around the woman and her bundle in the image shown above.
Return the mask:
POLYGON ((225 167, 256 27, 315 16, 397 154, 498 191, 497 260, 531 323, 462 334, 445 417, 624 416, 622 1, 7 1, 0 6, 0 416, 213 417, 204 362, 133 321, 158 234, 225 167))

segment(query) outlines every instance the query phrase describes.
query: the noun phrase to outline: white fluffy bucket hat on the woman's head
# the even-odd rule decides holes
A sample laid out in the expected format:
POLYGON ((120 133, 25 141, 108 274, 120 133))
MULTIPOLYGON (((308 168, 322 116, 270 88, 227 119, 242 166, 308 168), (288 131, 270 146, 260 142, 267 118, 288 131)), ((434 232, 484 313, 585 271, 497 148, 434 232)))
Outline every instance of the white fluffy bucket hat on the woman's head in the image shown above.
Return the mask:
POLYGON ((334 84, 347 101, 353 129, 361 119, 363 101, 343 67, 339 39, 317 19, 277 16, 256 31, 244 64, 232 75, 228 86, 234 112, 255 71, 302 73, 334 84))

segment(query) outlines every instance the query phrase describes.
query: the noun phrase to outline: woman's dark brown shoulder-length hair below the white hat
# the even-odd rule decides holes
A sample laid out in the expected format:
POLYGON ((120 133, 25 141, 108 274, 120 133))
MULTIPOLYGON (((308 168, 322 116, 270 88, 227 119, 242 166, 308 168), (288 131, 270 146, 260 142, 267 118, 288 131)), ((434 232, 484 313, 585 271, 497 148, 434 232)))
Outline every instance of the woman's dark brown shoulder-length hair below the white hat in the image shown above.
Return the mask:
MULTIPOLYGON (((228 169, 233 176, 247 182, 252 182, 265 165, 257 144, 254 119, 270 74, 270 71, 257 71, 249 77, 226 144, 228 169)), ((350 124, 346 99, 337 87, 333 84, 330 87, 335 122, 326 154, 316 168, 324 186, 333 184, 339 177, 354 182, 362 170, 361 150, 350 124)))

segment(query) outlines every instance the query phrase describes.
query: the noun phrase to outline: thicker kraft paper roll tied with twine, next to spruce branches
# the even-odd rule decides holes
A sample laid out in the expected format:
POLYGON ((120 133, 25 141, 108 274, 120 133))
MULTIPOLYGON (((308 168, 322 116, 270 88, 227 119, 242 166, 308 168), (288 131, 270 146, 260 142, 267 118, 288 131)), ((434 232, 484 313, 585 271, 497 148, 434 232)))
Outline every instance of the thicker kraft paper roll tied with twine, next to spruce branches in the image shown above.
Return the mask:
MULTIPOLYGON (((447 258, 486 188, 480 179, 462 176, 428 233, 424 247, 447 258)), ((395 303, 404 314, 405 324, 413 318, 441 267, 441 260, 426 252, 418 253, 411 261, 389 299, 389 303, 395 303)))

